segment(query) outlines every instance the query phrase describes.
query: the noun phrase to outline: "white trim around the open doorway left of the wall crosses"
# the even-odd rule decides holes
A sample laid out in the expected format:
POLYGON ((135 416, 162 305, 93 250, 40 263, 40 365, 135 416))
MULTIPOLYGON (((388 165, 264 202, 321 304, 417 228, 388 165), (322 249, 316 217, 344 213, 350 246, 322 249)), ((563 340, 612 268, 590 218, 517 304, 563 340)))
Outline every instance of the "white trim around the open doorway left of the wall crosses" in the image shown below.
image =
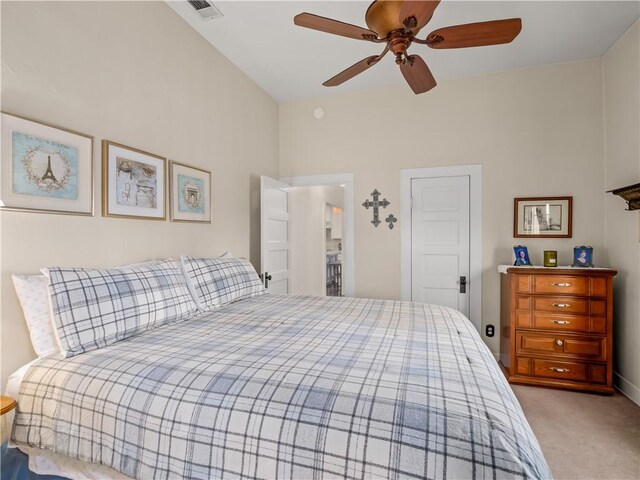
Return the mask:
POLYGON ((347 297, 353 297, 356 291, 355 237, 353 230, 353 173, 281 177, 280 181, 288 183, 292 187, 344 185, 344 210, 342 217, 343 294, 347 297))

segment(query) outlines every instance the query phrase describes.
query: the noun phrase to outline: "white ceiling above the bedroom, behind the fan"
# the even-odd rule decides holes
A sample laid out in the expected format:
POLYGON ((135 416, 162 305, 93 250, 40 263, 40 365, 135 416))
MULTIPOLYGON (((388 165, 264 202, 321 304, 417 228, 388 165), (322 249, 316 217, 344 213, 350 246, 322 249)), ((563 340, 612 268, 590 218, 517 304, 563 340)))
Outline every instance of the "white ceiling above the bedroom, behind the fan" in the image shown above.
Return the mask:
MULTIPOLYGON (((186 1, 167 2, 178 15, 278 101, 406 85, 387 55, 378 65, 338 87, 322 82, 383 46, 293 24, 300 12, 366 27, 364 1, 215 1, 224 14, 203 20, 186 1)), ((640 1, 444 0, 422 38, 448 25, 522 18, 513 43, 435 50, 412 45, 437 80, 602 56, 640 16, 640 1)), ((407 88, 409 88, 407 86, 407 88)), ((428 95, 428 93, 427 93, 428 95)))

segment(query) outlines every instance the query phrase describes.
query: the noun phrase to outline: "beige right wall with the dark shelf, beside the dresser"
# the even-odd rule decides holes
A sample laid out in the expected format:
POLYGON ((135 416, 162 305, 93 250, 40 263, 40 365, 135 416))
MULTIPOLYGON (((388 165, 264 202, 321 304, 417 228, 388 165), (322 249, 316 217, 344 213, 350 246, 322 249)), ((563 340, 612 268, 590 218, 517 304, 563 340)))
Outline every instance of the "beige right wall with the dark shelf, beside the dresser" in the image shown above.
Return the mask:
MULTIPOLYGON (((605 188, 640 182, 640 22, 604 57, 605 188)), ((605 243, 615 279, 616 384, 640 403, 639 216, 611 194, 605 203, 605 243), (620 378, 621 377, 621 378, 620 378)))

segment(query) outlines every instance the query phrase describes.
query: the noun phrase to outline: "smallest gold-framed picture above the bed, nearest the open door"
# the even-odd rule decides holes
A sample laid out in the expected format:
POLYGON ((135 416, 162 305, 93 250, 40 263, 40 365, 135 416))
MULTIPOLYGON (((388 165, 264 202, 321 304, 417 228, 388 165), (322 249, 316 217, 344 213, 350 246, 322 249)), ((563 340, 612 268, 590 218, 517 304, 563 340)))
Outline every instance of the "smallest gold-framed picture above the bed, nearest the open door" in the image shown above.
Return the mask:
POLYGON ((211 223, 211 172, 169 162, 172 222, 211 223))

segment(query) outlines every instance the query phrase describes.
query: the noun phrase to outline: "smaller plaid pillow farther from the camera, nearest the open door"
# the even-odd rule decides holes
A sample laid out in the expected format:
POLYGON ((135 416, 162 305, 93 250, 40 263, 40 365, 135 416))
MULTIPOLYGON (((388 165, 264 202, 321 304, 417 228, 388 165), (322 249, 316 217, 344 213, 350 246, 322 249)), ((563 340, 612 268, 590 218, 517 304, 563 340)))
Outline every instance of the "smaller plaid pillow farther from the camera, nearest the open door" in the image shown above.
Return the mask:
POLYGON ((266 293, 255 268, 244 258, 193 258, 183 255, 182 266, 201 310, 211 310, 266 293))

